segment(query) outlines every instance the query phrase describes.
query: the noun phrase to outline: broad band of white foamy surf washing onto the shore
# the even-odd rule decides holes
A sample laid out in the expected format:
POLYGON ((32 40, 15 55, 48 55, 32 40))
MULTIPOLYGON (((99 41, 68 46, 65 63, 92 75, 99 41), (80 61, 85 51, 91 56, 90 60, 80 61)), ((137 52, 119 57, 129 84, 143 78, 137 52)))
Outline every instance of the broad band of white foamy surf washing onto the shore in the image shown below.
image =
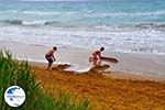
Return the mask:
POLYGON ((47 26, 0 26, 0 40, 48 46, 61 45, 82 48, 106 46, 119 52, 165 53, 165 33, 163 31, 152 29, 108 32, 64 30, 47 26))

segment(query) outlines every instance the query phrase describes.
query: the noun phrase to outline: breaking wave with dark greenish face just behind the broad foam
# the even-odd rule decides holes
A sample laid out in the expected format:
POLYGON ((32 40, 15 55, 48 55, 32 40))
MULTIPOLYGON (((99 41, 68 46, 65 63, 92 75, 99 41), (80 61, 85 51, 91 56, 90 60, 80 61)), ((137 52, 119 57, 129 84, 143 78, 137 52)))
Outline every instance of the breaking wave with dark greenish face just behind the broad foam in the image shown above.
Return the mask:
POLYGON ((135 30, 135 29, 165 29, 165 22, 140 22, 140 23, 130 23, 130 24, 79 24, 72 22, 59 22, 59 21, 48 21, 48 20, 2 20, 0 24, 11 24, 11 25, 51 25, 55 28, 84 28, 84 29, 96 29, 96 30, 135 30))

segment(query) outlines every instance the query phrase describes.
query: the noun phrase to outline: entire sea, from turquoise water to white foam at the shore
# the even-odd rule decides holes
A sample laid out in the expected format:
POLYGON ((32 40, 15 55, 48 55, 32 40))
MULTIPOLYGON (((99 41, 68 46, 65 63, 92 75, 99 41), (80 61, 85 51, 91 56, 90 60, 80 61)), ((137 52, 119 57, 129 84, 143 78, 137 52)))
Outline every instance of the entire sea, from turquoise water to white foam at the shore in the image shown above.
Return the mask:
POLYGON ((0 0, 0 41, 165 55, 165 0, 0 0))

